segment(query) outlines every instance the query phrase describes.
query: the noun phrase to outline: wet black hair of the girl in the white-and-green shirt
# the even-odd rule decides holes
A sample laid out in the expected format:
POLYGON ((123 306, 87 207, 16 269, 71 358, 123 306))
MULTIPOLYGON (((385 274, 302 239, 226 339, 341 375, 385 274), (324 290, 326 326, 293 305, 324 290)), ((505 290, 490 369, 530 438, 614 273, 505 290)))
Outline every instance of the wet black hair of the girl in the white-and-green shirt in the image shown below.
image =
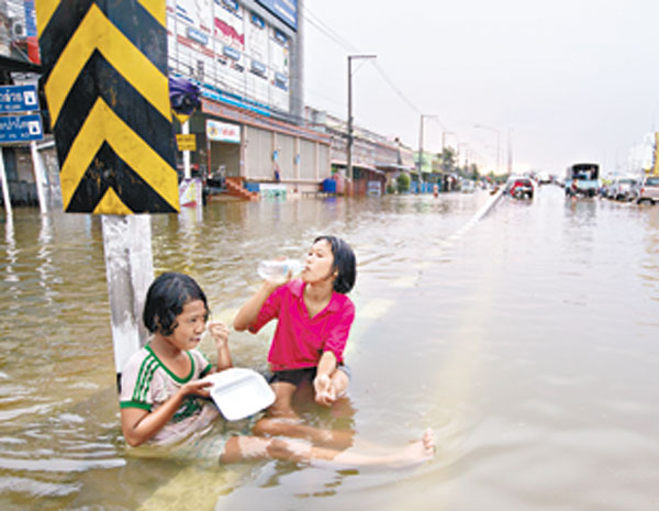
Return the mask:
POLYGON ((156 278, 146 293, 142 320, 150 332, 171 335, 177 327, 176 316, 183 312, 183 306, 192 300, 201 300, 209 310, 205 295, 188 275, 166 273, 156 278))

